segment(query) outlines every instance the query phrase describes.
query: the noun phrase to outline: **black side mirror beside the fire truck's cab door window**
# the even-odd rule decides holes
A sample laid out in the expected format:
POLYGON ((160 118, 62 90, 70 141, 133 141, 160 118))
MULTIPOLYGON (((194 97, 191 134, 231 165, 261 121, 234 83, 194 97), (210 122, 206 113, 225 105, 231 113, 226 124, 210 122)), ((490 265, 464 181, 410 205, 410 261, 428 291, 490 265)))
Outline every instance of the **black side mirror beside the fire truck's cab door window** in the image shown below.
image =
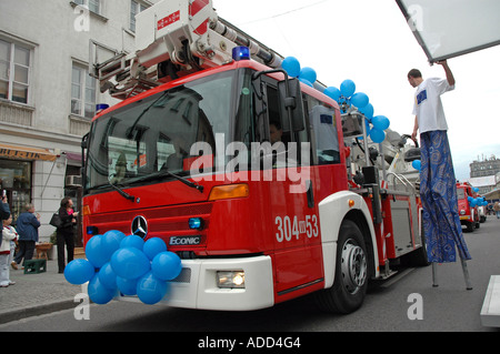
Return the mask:
MULTIPOLYGON (((306 129, 303 122, 302 91, 300 90, 299 79, 286 79, 278 82, 278 92, 280 95, 280 112, 282 122, 290 122, 293 132, 306 129)), ((283 124, 283 127, 289 127, 283 124)))

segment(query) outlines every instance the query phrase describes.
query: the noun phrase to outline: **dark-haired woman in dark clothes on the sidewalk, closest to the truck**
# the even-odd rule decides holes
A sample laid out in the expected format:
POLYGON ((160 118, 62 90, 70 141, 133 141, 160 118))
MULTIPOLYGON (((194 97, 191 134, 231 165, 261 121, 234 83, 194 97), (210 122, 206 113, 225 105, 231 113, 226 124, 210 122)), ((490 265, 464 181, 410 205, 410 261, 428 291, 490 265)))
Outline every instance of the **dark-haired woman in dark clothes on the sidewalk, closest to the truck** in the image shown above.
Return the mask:
POLYGON ((64 198, 59 208, 59 216, 61 218, 61 226, 57 230, 58 240, 58 266, 59 273, 64 272, 64 243, 68 251, 68 263, 73 260, 74 254, 74 225, 77 224, 78 213, 73 211, 73 201, 64 198))

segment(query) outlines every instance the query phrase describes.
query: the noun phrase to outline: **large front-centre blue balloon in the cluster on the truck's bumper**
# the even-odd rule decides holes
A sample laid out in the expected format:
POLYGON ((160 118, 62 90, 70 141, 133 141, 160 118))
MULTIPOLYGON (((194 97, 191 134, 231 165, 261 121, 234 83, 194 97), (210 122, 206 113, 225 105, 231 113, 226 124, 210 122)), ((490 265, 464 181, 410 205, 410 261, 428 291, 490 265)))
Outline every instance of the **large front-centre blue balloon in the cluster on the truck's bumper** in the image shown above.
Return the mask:
POLYGON ((138 279, 148 273, 150 266, 146 254, 134 247, 120 249, 111 256, 113 272, 124 279, 138 279))

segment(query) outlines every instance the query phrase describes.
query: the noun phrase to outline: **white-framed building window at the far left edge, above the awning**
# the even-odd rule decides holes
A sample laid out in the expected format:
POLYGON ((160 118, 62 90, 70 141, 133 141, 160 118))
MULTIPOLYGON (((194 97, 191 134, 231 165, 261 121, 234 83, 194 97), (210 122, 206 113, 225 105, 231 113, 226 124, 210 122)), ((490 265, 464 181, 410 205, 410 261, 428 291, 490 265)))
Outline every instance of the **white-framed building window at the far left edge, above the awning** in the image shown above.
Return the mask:
POLYGON ((31 50, 0 39, 0 98, 28 103, 31 50))

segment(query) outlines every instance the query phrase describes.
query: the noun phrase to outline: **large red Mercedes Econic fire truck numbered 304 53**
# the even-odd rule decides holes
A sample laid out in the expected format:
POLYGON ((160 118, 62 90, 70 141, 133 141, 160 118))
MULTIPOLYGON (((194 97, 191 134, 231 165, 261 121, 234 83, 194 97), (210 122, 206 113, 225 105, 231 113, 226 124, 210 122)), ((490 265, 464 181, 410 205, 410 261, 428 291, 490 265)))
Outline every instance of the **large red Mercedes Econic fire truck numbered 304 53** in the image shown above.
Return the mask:
POLYGON ((83 226, 161 237, 182 260, 162 303, 246 311, 314 292, 349 313, 392 264, 427 264, 414 183, 390 172, 381 188, 368 154, 349 156, 370 149, 362 114, 289 78, 208 0, 141 12, 137 44, 94 64, 122 101, 82 141, 83 226))

